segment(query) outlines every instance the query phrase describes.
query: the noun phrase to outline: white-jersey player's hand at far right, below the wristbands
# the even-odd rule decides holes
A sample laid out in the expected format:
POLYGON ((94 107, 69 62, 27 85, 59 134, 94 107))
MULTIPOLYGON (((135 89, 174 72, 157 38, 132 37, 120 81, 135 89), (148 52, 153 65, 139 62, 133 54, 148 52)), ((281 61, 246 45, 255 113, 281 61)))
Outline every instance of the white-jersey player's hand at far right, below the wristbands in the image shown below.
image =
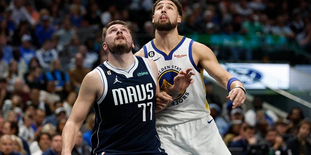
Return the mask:
POLYGON ((232 109, 235 109, 244 103, 246 96, 241 88, 234 88, 229 92, 229 95, 226 98, 231 101, 233 100, 232 109))

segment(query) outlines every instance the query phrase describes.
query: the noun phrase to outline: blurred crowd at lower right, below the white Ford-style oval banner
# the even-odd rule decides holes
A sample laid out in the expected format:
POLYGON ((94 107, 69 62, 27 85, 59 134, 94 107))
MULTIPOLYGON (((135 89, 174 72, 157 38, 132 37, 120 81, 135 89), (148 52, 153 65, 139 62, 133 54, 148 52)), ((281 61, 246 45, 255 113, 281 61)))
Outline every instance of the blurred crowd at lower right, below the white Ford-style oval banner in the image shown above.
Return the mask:
POLYGON ((232 101, 221 103, 212 92, 213 85, 205 80, 210 115, 233 155, 311 154, 311 119, 300 108, 281 117, 264 109, 262 98, 255 96, 252 109, 246 109, 245 104, 232 109, 232 101))

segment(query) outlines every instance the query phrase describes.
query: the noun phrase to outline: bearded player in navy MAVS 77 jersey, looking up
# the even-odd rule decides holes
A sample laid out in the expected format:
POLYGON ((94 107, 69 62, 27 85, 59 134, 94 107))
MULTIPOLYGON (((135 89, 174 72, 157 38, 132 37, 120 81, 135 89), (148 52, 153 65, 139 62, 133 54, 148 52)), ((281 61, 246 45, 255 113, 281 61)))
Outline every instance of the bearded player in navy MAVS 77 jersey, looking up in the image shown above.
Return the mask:
MULTIPOLYGON (((82 82, 63 130, 62 155, 71 155, 92 106, 96 114, 92 155, 167 155, 155 130, 155 100, 159 93, 155 62, 132 54, 132 32, 125 22, 108 23, 102 38, 108 61, 88 73, 82 82)), ((174 78, 179 85, 174 89, 181 92, 193 83, 191 70, 179 72, 174 78)))

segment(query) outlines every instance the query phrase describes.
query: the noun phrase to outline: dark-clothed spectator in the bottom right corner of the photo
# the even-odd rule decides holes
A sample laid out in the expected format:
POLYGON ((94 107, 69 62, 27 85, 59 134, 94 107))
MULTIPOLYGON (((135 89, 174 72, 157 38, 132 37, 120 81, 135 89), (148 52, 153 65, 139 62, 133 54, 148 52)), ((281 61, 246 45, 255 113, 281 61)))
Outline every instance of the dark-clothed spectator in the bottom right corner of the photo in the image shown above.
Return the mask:
POLYGON ((311 155, 311 142, 308 140, 310 132, 311 122, 306 119, 302 120, 296 136, 286 142, 291 155, 311 155))

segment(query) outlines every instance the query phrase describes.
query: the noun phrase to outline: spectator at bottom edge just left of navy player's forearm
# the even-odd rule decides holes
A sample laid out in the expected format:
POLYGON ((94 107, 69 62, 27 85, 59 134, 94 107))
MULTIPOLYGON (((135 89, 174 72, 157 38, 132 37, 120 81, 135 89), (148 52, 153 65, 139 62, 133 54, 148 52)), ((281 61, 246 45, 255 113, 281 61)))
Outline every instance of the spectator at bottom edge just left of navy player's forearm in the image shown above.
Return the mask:
POLYGON ((62 151, 62 135, 56 133, 52 135, 51 148, 43 152, 42 155, 60 155, 62 151))

